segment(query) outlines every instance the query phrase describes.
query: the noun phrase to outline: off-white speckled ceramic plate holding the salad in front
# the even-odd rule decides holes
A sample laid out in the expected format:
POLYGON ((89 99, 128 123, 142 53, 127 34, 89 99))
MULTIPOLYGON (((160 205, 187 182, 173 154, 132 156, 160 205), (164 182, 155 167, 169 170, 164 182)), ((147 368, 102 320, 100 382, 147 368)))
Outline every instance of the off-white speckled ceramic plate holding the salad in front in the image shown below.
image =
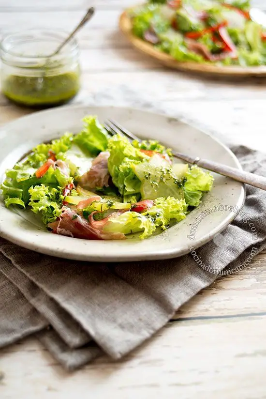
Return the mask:
MULTIPOLYGON (((140 138, 153 138, 183 153, 200 156, 241 168, 235 155, 222 143, 200 130, 165 115, 117 107, 59 107, 37 112, 0 129, 0 179, 32 147, 66 131, 77 133, 85 115, 98 115, 119 121, 140 138)), ((194 240, 188 238, 191 225, 201 211, 227 205, 241 207, 245 199, 242 184, 215 175, 213 190, 188 217, 146 240, 89 241, 55 235, 42 226, 32 212, 6 209, 0 200, 0 235, 15 244, 44 254, 82 261, 136 261, 167 259, 184 255, 211 240, 235 217, 236 213, 218 211, 198 225, 194 240)))

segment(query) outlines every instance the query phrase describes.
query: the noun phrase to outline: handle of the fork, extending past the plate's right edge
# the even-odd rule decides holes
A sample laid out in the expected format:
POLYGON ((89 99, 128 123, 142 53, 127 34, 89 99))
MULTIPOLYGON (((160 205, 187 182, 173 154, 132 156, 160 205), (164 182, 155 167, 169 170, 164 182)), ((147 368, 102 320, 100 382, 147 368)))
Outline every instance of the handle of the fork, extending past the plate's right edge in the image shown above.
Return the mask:
POLYGON ((196 159, 194 164, 201 168, 217 172, 223 176, 231 177, 241 183, 250 184, 254 187, 266 190, 266 178, 254 173, 245 172, 244 170, 231 168, 230 166, 222 165, 217 162, 208 161, 207 159, 196 159))

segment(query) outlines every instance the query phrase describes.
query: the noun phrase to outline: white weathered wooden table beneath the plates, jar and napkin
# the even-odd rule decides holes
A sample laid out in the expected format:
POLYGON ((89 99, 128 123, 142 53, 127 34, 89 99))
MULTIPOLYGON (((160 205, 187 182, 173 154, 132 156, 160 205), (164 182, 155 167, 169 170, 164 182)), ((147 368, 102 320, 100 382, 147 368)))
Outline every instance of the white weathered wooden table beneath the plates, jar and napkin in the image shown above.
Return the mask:
MULTIPOLYGON (((96 16, 79 34, 83 89, 75 102, 161 108, 264 150, 265 81, 203 80, 137 53, 117 30, 119 13, 133 2, 95 0, 96 16)), ((0 34, 29 27, 69 31, 89 5, 0 0, 0 34)), ((0 97, 1 124, 29 112, 0 97)), ((177 321, 123 360, 103 357, 73 374, 28 338, 0 352, 0 398, 266 398, 265 290, 261 254, 240 274, 196 295, 179 309, 177 321)))

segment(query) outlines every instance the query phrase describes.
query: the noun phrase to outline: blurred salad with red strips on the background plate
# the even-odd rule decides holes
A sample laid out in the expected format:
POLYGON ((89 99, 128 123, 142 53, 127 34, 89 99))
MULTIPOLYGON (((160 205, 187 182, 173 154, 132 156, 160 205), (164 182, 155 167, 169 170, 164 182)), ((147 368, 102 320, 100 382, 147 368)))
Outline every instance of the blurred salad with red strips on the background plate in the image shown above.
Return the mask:
POLYGON ((133 34, 177 61, 266 64, 266 29, 248 0, 150 0, 129 11, 133 34))

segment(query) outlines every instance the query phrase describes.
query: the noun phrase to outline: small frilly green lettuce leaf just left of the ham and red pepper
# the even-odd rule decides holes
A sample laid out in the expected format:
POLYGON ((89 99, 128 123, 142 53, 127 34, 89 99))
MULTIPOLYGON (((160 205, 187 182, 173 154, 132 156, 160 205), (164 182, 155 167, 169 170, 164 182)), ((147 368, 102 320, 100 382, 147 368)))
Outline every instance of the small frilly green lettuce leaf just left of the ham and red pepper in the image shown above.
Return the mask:
POLYGON ((29 194, 31 211, 40 213, 44 224, 54 222, 61 215, 63 196, 60 190, 40 184, 30 187, 29 194))

